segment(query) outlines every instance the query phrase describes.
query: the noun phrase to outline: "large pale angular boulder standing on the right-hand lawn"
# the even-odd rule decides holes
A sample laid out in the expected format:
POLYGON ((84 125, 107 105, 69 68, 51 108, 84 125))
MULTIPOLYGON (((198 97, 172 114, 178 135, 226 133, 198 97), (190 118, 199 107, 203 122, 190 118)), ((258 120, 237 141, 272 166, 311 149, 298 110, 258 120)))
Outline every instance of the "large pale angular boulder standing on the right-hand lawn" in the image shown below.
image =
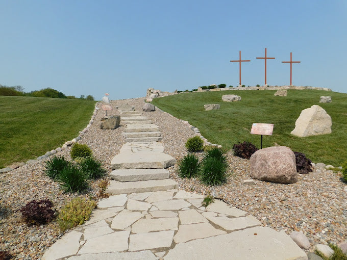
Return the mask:
POLYGON ((331 134, 331 125, 331 117, 327 112, 323 108, 313 105, 311 108, 301 111, 291 134, 299 137, 331 134))

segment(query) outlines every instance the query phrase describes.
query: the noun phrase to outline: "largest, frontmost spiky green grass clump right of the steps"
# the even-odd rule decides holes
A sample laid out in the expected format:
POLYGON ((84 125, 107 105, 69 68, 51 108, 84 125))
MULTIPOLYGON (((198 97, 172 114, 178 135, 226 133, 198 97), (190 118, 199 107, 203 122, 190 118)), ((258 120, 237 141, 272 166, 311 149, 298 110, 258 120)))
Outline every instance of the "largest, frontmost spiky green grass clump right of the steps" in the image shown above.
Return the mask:
POLYGON ((222 185, 227 182, 228 164, 215 157, 201 162, 200 180, 206 185, 222 185))

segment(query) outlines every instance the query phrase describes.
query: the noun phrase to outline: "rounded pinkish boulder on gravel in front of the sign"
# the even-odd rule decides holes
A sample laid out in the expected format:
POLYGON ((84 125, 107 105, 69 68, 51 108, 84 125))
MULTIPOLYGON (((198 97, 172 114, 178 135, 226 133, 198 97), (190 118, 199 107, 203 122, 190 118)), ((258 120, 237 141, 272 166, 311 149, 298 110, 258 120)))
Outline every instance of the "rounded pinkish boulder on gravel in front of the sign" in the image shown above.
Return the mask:
POLYGON ((291 184, 298 181, 295 154, 286 146, 260 149, 250 159, 250 175, 272 183, 291 184))

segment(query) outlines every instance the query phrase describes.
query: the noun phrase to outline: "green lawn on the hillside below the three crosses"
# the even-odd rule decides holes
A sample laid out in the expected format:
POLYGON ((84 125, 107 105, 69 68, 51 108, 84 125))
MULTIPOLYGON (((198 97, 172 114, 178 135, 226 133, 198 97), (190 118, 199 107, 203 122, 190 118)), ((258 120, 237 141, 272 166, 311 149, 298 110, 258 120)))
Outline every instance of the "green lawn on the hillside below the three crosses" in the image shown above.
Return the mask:
POLYGON ((189 92, 155 98, 153 104, 198 127, 210 142, 231 149, 250 141, 260 148, 260 136, 251 135, 252 123, 273 123, 272 136, 263 136, 263 148, 285 145, 304 152, 313 162, 340 166, 347 160, 347 94, 321 90, 288 90, 286 97, 275 90, 189 92), (238 102, 223 102, 221 96, 237 94, 238 102), (331 96, 331 103, 319 103, 319 96, 331 96), (219 103, 220 109, 205 111, 204 105, 219 103), (332 118, 332 134, 300 138, 290 132, 302 110, 312 105, 324 108, 332 118))

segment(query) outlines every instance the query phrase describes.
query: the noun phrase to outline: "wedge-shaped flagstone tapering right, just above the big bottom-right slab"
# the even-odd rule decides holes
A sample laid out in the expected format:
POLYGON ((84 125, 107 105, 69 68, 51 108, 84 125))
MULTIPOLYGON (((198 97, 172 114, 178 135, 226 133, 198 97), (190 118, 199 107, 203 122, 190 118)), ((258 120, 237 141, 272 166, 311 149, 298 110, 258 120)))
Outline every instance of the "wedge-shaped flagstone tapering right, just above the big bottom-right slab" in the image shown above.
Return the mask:
POLYGON ((184 243, 193 239, 208 238, 227 233, 214 228, 210 223, 180 225, 174 237, 176 243, 184 243))

